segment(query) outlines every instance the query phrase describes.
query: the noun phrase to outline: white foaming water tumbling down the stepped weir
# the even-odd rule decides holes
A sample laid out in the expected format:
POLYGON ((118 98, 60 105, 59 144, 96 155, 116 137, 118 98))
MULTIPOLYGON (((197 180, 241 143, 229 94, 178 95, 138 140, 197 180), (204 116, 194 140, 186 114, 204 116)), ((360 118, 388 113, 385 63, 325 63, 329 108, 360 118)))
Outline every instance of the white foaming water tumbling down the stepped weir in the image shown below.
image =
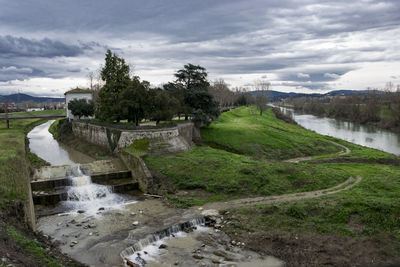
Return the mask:
MULTIPOLYGON (((69 210, 95 213, 100 208, 117 208, 126 204, 126 199, 113 193, 111 186, 92 183, 89 175, 82 172, 80 165, 71 167, 66 200, 62 202, 69 210)), ((129 203, 132 203, 130 201, 129 203)))

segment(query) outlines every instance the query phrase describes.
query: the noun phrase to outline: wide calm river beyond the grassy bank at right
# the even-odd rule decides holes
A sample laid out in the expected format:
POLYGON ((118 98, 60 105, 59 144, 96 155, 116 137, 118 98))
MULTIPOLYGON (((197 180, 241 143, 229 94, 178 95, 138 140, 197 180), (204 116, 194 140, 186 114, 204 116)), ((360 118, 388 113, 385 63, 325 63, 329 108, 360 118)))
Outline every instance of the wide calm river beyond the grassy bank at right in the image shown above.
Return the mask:
POLYGON ((290 108, 281 107, 281 110, 299 125, 319 134, 400 155, 400 134, 372 125, 360 125, 339 119, 303 114, 290 108))

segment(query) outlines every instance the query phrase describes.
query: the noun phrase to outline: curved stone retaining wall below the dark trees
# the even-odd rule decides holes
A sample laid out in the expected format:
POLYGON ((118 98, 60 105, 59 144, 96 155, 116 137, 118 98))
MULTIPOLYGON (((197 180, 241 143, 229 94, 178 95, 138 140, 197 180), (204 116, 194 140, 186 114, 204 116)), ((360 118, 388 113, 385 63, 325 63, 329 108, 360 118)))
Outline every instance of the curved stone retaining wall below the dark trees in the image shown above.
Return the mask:
POLYGON ((178 153, 193 145, 194 124, 179 124, 176 127, 148 130, 119 130, 85 122, 72 122, 72 131, 78 138, 103 146, 111 151, 132 145, 136 140, 149 140, 148 153, 178 153))

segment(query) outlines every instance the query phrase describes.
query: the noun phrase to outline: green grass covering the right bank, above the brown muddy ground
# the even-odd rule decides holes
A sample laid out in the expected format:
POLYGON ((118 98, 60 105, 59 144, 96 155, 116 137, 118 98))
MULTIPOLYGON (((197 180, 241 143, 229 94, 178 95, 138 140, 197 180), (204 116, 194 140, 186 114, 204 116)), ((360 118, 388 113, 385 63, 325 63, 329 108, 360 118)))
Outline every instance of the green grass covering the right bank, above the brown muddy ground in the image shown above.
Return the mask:
POLYGON ((231 211, 235 216, 230 225, 244 235, 279 231, 379 236, 397 242, 400 247, 400 167, 392 166, 399 157, 277 121, 269 111, 260 117, 253 108, 222 114, 209 128, 202 129, 202 134, 207 142, 217 143, 222 149, 200 146, 186 153, 145 159, 150 169, 169 177, 176 189, 189 192, 170 194, 173 202, 190 206, 230 198, 312 191, 339 184, 350 176, 362 176, 361 183, 352 189, 327 197, 235 209, 231 211), (329 140, 347 146, 351 152, 334 154, 338 148, 332 148, 329 140), (306 148, 299 149, 302 145, 306 148), (227 147, 241 154, 230 153, 227 147), (312 151, 314 147, 317 151, 312 151), (268 156, 270 150, 277 150, 271 152, 274 157, 268 156), (286 155, 322 153, 329 155, 317 155, 310 163, 275 160, 287 158, 286 155), (313 164, 315 159, 332 162, 313 164), (343 159, 346 163, 340 163, 343 159), (378 164, 386 161, 390 164, 378 164))

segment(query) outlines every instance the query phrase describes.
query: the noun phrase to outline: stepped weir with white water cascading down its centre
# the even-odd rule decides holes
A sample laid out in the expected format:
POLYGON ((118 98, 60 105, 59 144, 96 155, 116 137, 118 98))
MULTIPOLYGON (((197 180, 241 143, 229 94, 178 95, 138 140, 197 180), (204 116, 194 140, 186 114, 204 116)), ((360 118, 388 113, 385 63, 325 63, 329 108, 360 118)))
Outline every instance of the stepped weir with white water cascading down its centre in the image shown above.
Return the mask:
POLYGON ((137 190, 138 183, 118 160, 102 160, 42 167, 35 171, 31 188, 36 205, 63 202, 67 209, 86 209, 94 203, 106 205, 122 201, 115 193, 137 190))

